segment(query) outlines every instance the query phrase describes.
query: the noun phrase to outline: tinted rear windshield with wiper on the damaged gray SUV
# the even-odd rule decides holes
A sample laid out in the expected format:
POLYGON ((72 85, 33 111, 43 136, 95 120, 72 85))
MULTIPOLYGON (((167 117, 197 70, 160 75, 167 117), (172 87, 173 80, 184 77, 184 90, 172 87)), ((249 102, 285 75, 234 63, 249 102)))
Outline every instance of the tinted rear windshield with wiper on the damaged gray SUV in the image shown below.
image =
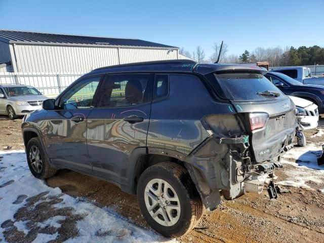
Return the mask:
POLYGON ((265 76, 257 73, 215 74, 223 98, 235 101, 281 99, 284 94, 265 76), (263 94, 261 94, 263 93, 263 94))

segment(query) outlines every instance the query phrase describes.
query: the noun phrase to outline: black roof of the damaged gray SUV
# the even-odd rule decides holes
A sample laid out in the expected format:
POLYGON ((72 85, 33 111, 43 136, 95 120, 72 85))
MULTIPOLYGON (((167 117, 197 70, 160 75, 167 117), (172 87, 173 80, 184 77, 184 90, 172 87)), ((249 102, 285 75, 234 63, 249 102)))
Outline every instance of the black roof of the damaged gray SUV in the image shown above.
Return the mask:
MULTIPOLYGON (((264 69, 256 65, 245 64, 219 64, 219 63, 196 63, 191 60, 164 60, 152 62, 137 62, 130 64, 114 65, 94 69, 89 73, 113 73, 113 72, 195 72, 200 74, 208 74, 211 72, 227 72, 227 71, 244 71, 254 73, 266 73, 264 69)), ((88 74, 86 74, 88 75, 88 74)))

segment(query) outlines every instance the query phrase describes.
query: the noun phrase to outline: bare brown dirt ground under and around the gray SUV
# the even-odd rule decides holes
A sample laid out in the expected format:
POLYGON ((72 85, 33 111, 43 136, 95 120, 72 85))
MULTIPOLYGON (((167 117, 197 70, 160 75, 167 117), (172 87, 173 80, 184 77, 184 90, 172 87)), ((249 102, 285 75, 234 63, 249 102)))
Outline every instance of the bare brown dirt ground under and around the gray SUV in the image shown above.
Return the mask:
MULTIPOLYGON (((0 149, 12 146, 23 148, 21 120, 0 116, 0 149)), ((324 118, 320 119, 320 126, 324 118)), ((322 144, 323 137, 310 136, 317 129, 305 132, 307 141, 322 144)), ((276 171, 285 180, 285 170, 276 171)), ((144 221, 135 195, 122 192, 117 186, 76 172, 62 170, 47 180, 51 187, 75 197, 83 197, 99 207, 109 207, 138 226, 144 221)), ((309 182, 313 183, 313 182, 309 182)), ((322 188, 324 185, 320 185, 322 188)), ((282 187, 277 200, 269 200, 266 191, 261 195, 248 193, 232 201, 223 200, 215 211, 204 213, 199 225, 180 242, 324 242, 324 194, 294 187, 282 187)))

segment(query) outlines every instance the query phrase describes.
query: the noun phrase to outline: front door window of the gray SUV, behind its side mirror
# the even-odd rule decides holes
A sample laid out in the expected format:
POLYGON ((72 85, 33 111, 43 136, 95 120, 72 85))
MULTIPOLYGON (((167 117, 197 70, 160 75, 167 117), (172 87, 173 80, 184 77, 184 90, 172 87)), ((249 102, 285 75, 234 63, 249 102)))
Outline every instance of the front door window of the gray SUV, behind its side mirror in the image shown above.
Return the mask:
POLYGON ((60 100, 62 109, 93 108, 93 98, 98 88, 101 76, 90 77, 71 87, 60 100))

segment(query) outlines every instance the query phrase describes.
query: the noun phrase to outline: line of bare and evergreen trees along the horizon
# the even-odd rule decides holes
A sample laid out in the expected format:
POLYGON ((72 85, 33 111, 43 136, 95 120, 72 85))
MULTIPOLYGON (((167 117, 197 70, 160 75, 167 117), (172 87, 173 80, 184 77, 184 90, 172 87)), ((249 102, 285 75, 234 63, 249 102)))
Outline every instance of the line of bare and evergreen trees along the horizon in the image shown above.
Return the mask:
MULTIPOLYGON (((220 45, 215 43, 213 45, 213 54, 206 58, 206 54, 201 46, 197 46, 192 53, 186 51, 184 48, 179 49, 179 53, 187 57, 193 58, 198 62, 215 62, 218 58, 220 45)), ((251 63, 257 61, 268 61, 272 67, 277 66, 306 66, 306 65, 324 65, 324 48, 319 46, 313 47, 281 47, 276 48, 262 48, 258 47, 252 52, 246 50, 241 55, 227 55, 228 45, 223 44, 220 55, 220 62, 222 63, 251 63)))

